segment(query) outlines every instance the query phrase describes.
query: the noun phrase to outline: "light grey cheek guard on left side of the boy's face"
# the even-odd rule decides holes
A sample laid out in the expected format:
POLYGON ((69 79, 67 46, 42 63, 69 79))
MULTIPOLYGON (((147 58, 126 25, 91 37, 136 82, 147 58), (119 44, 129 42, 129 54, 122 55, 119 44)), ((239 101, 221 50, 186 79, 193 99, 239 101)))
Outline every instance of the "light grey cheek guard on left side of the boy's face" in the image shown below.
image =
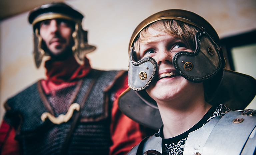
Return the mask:
POLYGON ((145 57, 138 62, 133 58, 134 47, 130 49, 128 85, 135 91, 145 90, 154 79, 157 72, 157 63, 151 57, 145 57))

